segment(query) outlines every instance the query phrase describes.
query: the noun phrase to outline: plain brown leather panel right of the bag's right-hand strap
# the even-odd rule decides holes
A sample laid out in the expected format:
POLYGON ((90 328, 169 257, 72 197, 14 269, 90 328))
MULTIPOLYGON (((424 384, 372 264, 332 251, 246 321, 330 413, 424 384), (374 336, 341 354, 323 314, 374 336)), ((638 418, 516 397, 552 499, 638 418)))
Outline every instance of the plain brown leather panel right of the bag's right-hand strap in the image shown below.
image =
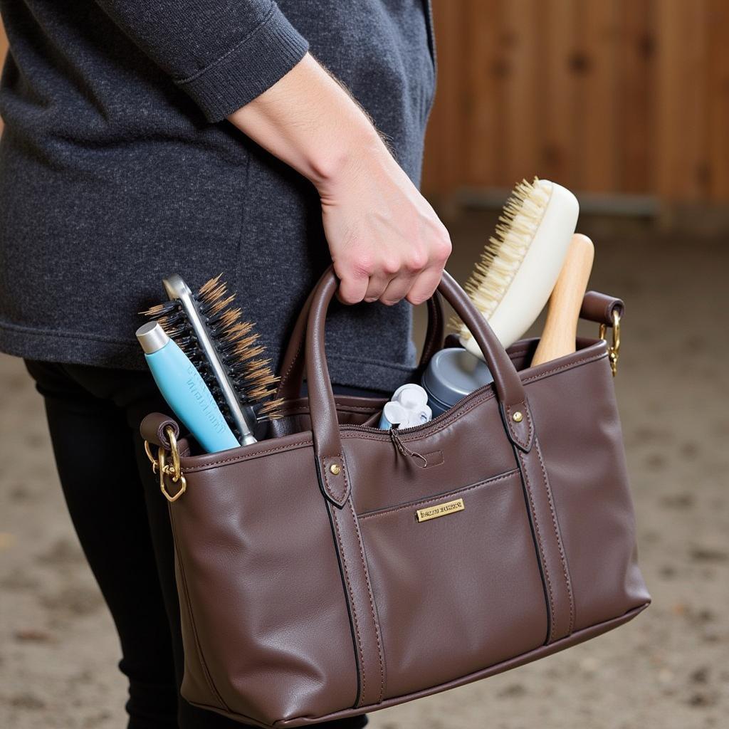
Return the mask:
POLYGON ((636 561, 615 385, 603 356, 577 359, 527 387, 569 564, 578 631, 650 601, 636 561))

